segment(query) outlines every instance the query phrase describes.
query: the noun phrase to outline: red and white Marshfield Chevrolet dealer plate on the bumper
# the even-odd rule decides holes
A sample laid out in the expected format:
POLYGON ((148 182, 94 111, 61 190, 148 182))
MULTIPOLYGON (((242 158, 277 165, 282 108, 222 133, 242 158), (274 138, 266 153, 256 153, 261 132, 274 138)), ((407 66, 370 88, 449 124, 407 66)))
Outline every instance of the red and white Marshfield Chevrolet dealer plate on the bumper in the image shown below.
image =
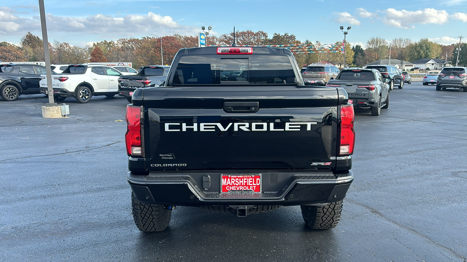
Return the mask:
POLYGON ((220 174, 220 192, 261 193, 261 174, 220 174))

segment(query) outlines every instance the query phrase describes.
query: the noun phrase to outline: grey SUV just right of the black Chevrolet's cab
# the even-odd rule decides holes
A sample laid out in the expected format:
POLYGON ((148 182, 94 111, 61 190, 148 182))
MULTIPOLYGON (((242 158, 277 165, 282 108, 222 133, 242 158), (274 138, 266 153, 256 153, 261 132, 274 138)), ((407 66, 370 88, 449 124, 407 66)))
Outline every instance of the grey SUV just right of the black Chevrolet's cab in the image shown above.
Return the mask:
POLYGON ((306 67, 302 74, 305 85, 325 85, 329 80, 335 79, 340 70, 330 63, 312 63, 306 67))

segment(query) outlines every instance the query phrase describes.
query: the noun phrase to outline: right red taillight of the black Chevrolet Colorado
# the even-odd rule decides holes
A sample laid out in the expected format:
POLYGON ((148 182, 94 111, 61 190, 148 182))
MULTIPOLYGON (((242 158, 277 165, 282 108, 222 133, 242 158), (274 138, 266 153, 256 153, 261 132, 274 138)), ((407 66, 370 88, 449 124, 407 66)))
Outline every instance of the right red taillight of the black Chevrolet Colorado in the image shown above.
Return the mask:
POLYGON ((340 106, 340 155, 351 155, 354 153, 354 117, 355 114, 353 104, 340 106))

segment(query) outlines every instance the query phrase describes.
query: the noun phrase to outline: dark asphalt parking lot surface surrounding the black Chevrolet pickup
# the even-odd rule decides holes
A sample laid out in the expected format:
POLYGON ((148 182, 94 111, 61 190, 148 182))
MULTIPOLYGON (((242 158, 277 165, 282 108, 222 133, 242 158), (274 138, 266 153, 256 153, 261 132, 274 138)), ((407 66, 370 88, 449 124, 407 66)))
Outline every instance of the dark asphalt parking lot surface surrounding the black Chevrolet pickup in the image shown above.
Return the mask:
POLYGON ((177 207, 159 233, 131 214, 125 98, 67 98, 59 119, 41 117, 43 95, 0 101, 0 260, 466 262, 466 100, 412 82, 378 117, 356 109, 336 228, 307 228, 299 207, 246 218, 177 207))

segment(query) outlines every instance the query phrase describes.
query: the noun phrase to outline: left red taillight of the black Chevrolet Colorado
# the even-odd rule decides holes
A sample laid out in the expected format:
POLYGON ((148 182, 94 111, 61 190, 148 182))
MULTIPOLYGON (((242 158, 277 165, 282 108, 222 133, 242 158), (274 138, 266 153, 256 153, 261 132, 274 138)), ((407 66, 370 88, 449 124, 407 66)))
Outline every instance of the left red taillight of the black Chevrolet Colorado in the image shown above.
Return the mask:
POLYGON ((127 105, 127 134, 125 143, 129 156, 142 156, 141 106, 127 105))

